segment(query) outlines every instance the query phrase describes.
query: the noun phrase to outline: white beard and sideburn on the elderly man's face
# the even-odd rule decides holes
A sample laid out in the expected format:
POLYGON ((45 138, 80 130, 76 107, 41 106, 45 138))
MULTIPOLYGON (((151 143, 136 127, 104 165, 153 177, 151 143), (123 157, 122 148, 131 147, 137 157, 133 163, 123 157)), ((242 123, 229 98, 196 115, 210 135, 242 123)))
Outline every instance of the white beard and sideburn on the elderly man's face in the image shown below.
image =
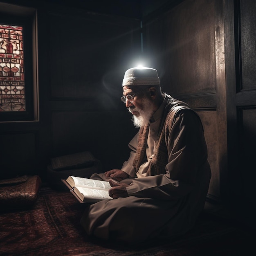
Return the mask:
POLYGON ((143 102, 143 108, 144 110, 141 110, 139 108, 129 108, 129 112, 137 111, 139 115, 132 116, 132 122, 136 128, 140 128, 141 126, 145 126, 148 124, 150 118, 153 116, 153 104, 149 99, 144 98, 142 100, 143 102))

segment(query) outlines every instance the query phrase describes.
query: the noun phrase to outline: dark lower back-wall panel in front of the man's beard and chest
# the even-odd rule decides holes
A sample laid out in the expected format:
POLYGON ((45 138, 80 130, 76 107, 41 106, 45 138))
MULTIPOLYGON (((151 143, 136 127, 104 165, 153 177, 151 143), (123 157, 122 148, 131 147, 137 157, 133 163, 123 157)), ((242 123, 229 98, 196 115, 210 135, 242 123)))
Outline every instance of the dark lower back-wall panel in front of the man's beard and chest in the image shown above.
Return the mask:
POLYGON ((53 155, 90 151, 103 170, 121 168, 130 156, 128 143, 138 131, 128 111, 52 113, 53 155))

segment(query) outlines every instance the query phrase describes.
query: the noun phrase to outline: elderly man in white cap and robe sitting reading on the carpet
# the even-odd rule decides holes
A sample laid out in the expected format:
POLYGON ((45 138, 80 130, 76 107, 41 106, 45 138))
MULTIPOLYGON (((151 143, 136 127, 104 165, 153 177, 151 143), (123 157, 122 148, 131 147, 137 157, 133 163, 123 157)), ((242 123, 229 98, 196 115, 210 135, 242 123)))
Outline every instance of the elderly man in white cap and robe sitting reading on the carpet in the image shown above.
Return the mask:
POLYGON ((113 200, 88 206, 81 225, 91 236, 132 244, 180 236, 202 211, 211 178, 200 118, 162 93, 153 68, 127 70, 123 90, 121 100, 140 129, 120 170, 92 175, 111 178, 113 200))

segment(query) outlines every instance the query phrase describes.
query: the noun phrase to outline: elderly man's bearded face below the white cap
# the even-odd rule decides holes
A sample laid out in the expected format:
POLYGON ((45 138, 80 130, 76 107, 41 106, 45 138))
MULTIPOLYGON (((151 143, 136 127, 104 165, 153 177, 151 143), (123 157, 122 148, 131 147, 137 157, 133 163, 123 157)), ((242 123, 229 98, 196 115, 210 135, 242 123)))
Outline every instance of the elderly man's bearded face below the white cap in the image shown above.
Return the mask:
MULTIPOLYGON (((133 95, 136 92, 136 90, 124 86, 123 94, 125 97, 128 94, 133 95)), ((153 115, 153 102, 145 95, 144 91, 136 94, 132 102, 126 100, 126 108, 132 113, 132 121, 136 128, 146 125, 153 115)))

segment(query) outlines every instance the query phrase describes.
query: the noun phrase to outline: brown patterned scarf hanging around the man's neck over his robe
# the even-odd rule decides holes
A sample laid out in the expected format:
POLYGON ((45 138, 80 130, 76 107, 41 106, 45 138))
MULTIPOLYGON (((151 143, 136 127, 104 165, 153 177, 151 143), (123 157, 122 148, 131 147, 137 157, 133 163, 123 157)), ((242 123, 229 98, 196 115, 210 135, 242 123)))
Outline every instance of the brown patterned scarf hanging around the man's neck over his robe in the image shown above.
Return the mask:
MULTIPOLYGON (((155 144, 155 155, 153 159, 150 161, 148 171, 146 176, 153 176, 158 174, 165 174, 165 166, 168 163, 168 135, 171 131, 171 127, 173 125, 173 121, 176 113, 184 108, 189 108, 189 105, 182 101, 178 101, 173 99, 171 96, 167 96, 168 101, 164 108, 159 130, 157 133, 157 141, 155 144)), ((136 150, 135 159, 133 161, 132 166, 135 168, 136 173, 139 170, 139 166, 141 165, 141 161, 146 154, 146 143, 148 138, 148 130, 149 123, 146 126, 143 126, 139 130, 139 138, 138 138, 138 146, 136 150)))

